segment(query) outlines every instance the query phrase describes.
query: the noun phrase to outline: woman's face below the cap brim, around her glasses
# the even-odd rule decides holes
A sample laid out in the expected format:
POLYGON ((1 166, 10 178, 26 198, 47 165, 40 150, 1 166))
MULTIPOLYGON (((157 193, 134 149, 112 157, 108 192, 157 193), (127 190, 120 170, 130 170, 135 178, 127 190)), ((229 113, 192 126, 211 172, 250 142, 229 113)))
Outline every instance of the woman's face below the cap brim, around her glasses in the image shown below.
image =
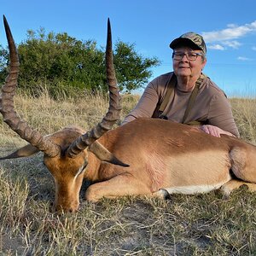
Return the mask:
POLYGON ((201 54, 199 49, 190 49, 189 47, 178 47, 174 49, 174 53, 177 55, 183 55, 180 61, 172 59, 173 71, 177 77, 194 78, 199 77, 203 67, 207 63, 207 59, 201 55, 197 55, 195 61, 189 61, 188 54, 201 54))

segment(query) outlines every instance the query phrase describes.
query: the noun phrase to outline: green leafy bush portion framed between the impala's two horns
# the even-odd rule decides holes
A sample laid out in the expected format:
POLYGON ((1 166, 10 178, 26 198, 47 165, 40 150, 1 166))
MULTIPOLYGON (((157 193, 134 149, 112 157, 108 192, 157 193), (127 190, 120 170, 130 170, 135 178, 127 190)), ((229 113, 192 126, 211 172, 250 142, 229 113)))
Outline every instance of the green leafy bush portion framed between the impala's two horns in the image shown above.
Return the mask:
MULTIPOLYGON (((47 84, 51 95, 77 90, 95 90, 103 86, 104 55, 96 42, 82 42, 67 33, 45 34, 28 31, 18 46, 20 56, 19 84, 25 90, 37 91, 35 84, 47 84)), ((38 85, 37 85, 38 86, 38 85)))

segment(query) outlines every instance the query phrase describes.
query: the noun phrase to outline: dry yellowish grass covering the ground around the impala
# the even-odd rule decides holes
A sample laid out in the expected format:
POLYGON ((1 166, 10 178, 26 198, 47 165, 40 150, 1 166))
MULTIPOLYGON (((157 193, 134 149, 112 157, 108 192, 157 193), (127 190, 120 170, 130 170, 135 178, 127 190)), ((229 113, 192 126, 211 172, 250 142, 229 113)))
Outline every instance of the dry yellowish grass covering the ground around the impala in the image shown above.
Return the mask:
MULTIPOLYGON (((122 118, 137 98, 124 96, 122 118)), ((255 142, 254 100, 232 99, 241 136, 255 142)), ((55 102, 47 93, 16 97, 16 108, 46 134, 62 126, 85 129, 102 119, 108 101, 102 96, 55 102), (47 119, 47 122, 45 122, 47 119)), ((0 154, 25 144, 0 121, 0 154)), ((246 189, 229 199, 173 195, 171 201, 125 197, 84 201, 73 214, 49 212, 54 183, 42 155, 0 163, 1 255, 255 255, 256 200, 246 189)))

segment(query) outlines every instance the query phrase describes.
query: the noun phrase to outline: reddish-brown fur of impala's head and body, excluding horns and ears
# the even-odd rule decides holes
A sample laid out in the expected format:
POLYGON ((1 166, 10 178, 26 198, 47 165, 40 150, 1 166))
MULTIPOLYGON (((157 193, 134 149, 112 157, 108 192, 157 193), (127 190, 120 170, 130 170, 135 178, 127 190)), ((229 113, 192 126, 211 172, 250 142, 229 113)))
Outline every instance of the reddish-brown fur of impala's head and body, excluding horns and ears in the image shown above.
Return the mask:
POLYGON ((163 119, 136 119, 98 140, 129 165, 124 167, 102 162, 90 148, 75 159, 67 157, 65 149, 83 133, 78 127, 69 127, 48 136, 62 152, 55 158, 44 156, 55 179, 57 210, 79 208, 83 178, 93 183, 85 194, 89 201, 122 195, 161 196, 160 189, 205 189, 209 185, 214 189, 225 183, 224 191, 229 194, 229 189, 237 186, 230 183, 230 168, 236 177, 256 181, 255 147, 234 137, 212 137, 195 127, 163 119))

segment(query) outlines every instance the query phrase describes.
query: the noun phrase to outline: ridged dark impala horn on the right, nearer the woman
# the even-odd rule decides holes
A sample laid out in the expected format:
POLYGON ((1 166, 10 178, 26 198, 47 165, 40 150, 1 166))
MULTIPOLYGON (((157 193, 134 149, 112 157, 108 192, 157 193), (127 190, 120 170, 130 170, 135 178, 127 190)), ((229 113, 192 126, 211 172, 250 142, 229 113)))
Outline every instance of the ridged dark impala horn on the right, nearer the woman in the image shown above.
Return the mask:
POLYGON ((107 37, 107 47, 106 47, 106 70, 107 70, 107 83, 109 90, 109 108, 108 113, 102 121, 96 125, 92 130, 84 133, 76 139, 70 146, 67 148, 67 156, 76 157, 82 150, 94 143, 98 138, 109 131, 114 123, 119 119, 119 112, 121 110, 120 106, 120 96, 119 90, 117 87, 117 80, 115 78, 115 72, 113 67, 113 50, 112 50, 112 35, 111 35, 111 26, 108 19, 108 37, 107 37))

